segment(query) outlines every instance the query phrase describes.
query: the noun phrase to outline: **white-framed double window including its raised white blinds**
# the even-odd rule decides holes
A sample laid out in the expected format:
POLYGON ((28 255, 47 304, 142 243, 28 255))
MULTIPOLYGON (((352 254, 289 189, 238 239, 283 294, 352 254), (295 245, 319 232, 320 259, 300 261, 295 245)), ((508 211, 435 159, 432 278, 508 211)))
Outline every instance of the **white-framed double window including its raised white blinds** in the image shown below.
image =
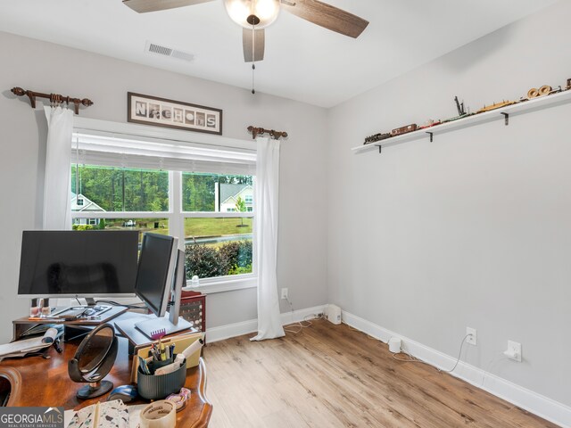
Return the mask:
MULTIPOLYGON (((70 166, 71 194, 81 194, 87 207, 72 206, 73 229, 135 229, 140 239, 144 232, 173 235, 184 243, 187 280, 199 276, 201 286, 235 284, 240 278, 255 281, 254 213, 243 195, 252 193, 255 153, 230 156, 221 150, 218 159, 218 151, 201 148, 194 159, 192 151, 175 150, 171 142, 161 147, 114 136, 74 137, 72 159, 77 163, 70 166), (241 172, 246 174, 236 174, 241 172)), ((255 285, 248 281, 246 286, 255 285)))

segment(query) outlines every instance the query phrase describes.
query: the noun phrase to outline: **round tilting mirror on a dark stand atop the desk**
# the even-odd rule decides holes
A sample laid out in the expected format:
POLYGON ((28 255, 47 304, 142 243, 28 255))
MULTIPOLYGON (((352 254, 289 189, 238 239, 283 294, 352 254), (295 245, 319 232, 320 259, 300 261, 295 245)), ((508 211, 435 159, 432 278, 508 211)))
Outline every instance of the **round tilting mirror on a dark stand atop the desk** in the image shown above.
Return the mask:
POLYGON ((79 388, 79 399, 93 399, 111 391, 113 383, 103 381, 117 358, 117 338, 110 324, 97 326, 79 344, 75 356, 68 363, 68 374, 73 382, 88 383, 79 388))

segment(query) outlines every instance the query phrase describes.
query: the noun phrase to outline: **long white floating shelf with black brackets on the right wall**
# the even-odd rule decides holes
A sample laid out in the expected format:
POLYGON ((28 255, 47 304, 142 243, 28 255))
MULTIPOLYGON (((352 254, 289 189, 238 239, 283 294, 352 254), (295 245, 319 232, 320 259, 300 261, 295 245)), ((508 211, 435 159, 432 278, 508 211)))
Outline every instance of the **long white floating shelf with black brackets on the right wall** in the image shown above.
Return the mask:
POLYGON ((492 111, 485 111, 484 113, 468 116, 468 118, 446 122, 442 125, 436 125, 432 128, 418 129, 417 131, 410 132, 409 134, 392 136, 391 138, 377 141, 375 143, 362 144, 357 147, 353 147, 351 150, 355 153, 369 152, 371 150, 376 150, 378 147, 407 143, 421 138, 426 138, 430 141, 431 134, 433 139, 435 139, 436 136, 456 129, 473 127, 479 123, 492 122, 493 120, 506 120, 507 124, 509 118, 513 116, 530 113, 532 111, 539 111, 565 103, 571 103, 571 90, 559 92, 558 94, 542 96, 540 98, 534 98, 523 103, 511 104, 492 111))

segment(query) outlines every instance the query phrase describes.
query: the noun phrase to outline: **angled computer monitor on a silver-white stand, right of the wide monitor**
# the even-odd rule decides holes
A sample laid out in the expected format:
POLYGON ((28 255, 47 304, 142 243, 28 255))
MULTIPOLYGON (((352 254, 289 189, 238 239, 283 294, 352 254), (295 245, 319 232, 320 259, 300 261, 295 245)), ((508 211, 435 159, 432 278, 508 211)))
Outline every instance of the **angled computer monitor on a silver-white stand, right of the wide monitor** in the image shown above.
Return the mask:
POLYGON ((139 331, 153 338, 154 333, 175 333, 192 327, 178 317, 180 293, 185 281, 185 252, 178 250, 172 236, 145 234, 139 256, 135 293, 157 318, 135 323, 139 331), (167 308, 170 303, 170 311, 167 308))

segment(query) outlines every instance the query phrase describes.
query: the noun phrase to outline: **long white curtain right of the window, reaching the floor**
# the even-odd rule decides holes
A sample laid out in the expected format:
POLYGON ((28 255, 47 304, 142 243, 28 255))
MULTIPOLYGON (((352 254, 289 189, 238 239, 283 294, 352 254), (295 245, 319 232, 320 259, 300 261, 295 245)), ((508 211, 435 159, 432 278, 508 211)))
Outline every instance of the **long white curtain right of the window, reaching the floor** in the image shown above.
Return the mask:
POLYGON ((258 138, 254 230, 258 251, 258 335, 252 341, 285 335, 277 300, 277 192, 279 141, 258 138))

